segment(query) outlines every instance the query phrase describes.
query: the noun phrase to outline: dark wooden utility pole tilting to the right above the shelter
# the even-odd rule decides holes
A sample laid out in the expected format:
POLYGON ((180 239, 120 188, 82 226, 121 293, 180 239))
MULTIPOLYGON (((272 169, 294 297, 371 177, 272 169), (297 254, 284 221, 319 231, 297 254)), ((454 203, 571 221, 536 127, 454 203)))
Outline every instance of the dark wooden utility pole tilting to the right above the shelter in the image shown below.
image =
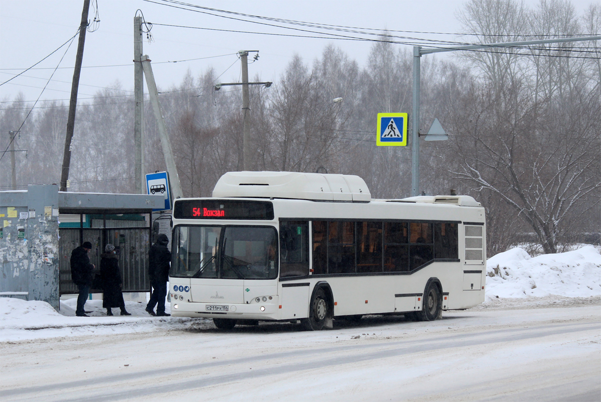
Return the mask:
POLYGON ((67 117, 67 136, 65 138, 65 150, 63 152, 63 169, 61 171, 60 191, 67 191, 67 179, 69 179, 69 165, 71 164, 71 141, 73 129, 75 129, 75 109, 77 108, 77 92, 79 88, 79 74, 81 73, 81 62, 84 59, 85 31, 88 28, 88 10, 90 0, 84 0, 84 10, 81 13, 79 24, 79 42, 77 55, 75 56, 75 70, 71 83, 71 99, 69 100, 69 117, 67 117))

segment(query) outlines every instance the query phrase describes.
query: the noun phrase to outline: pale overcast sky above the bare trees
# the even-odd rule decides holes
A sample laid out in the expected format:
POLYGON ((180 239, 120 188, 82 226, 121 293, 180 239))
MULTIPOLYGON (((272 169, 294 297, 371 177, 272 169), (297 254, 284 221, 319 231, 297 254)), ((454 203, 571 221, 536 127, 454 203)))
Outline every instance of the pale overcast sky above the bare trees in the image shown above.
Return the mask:
MULTIPOLYGON (((144 53, 148 54, 153 61, 157 86, 162 90, 180 84, 188 69, 191 70, 192 75, 197 76, 211 66, 215 68, 218 75, 225 72, 220 81, 239 82, 240 62, 234 53, 240 49, 260 50, 260 59, 249 65, 251 79, 258 74, 261 81, 277 82, 294 53, 299 54, 305 61, 311 62, 320 56, 327 44, 334 43, 361 65, 365 65, 372 44, 366 41, 285 37, 160 26, 157 24, 325 36, 181 10, 169 7, 164 0, 155 1, 156 3, 142 0, 91 1, 94 6, 97 3, 100 23, 97 31, 87 32, 85 37, 83 61, 85 68, 81 73, 79 99, 90 98, 97 91, 102 90, 102 87, 111 87, 117 81, 124 90, 133 90, 133 17, 138 9, 144 13, 147 22, 155 24, 150 32, 153 42, 148 43, 144 40, 144 53), (182 61, 188 59, 198 60, 182 61)), ((304 22, 356 26, 376 30, 453 33, 461 31, 456 19, 456 12, 465 1, 187 0, 185 2, 237 13, 304 22)), ((528 1, 528 4, 531 5, 536 3, 537 1, 534 0, 528 1)), ((573 1, 573 4, 581 13, 590 4, 590 1, 576 0, 573 1)), ((75 35, 81 20, 82 5, 83 0, 0 0, 0 82, 7 81, 40 61, 75 35)), ((230 16, 237 17, 232 14, 230 16)), ((90 7, 88 18, 94 18, 94 7, 90 7)), ((248 19, 246 17, 239 18, 248 19)), ((281 25, 280 23, 276 24, 281 25)), ((297 28, 314 30, 302 26, 297 26, 297 28)), ((344 32, 338 33, 345 34, 344 32)), ((356 34, 348 35, 356 36, 356 34)), ((465 37, 460 38, 457 35, 421 33, 398 33, 398 35, 431 40, 467 40, 465 37)), ((75 38, 67 53, 64 53, 67 49, 65 46, 38 64, 36 69, 29 70, 22 76, 0 86, 0 100, 6 101, 7 98, 12 100, 19 92, 23 93, 25 100, 37 99, 40 96, 41 88, 46 85, 53 69, 63 55, 61 68, 56 70, 53 81, 49 82, 40 100, 68 100, 77 44, 77 38, 75 38)), ((396 46, 410 49, 409 45, 398 44, 396 46)))

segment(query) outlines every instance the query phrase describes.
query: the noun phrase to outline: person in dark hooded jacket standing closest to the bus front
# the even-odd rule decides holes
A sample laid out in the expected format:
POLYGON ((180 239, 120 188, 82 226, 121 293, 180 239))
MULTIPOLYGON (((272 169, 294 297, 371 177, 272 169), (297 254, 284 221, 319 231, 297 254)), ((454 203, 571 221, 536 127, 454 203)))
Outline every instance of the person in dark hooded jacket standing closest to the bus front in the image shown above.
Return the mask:
POLYGON ((148 255, 148 277, 152 286, 152 296, 146 305, 146 311, 150 315, 166 316, 165 296, 167 296, 167 281, 169 280, 169 263, 171 263, 171 251, 167 248, 169 239, 166 234, 159 234, 150 247, 148 255), (154 306, 156 305, 156 314, 154 306))

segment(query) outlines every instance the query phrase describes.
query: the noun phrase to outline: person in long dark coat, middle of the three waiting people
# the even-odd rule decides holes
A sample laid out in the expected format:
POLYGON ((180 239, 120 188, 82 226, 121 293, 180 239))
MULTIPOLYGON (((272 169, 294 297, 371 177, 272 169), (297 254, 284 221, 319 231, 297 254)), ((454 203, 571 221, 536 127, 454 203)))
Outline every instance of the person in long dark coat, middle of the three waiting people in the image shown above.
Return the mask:
POLYGON ((106 315, 112 315, 111 308, 121 309, 121 315, 131 315, 125 309, 123 293, 121 292, 121 270, 119 269, 119 260, 115 254, 115 246, 108 244, 105 246, 105 252, 100 254, 100 277, 102 278, 102 306, 106 308, 106 315))

